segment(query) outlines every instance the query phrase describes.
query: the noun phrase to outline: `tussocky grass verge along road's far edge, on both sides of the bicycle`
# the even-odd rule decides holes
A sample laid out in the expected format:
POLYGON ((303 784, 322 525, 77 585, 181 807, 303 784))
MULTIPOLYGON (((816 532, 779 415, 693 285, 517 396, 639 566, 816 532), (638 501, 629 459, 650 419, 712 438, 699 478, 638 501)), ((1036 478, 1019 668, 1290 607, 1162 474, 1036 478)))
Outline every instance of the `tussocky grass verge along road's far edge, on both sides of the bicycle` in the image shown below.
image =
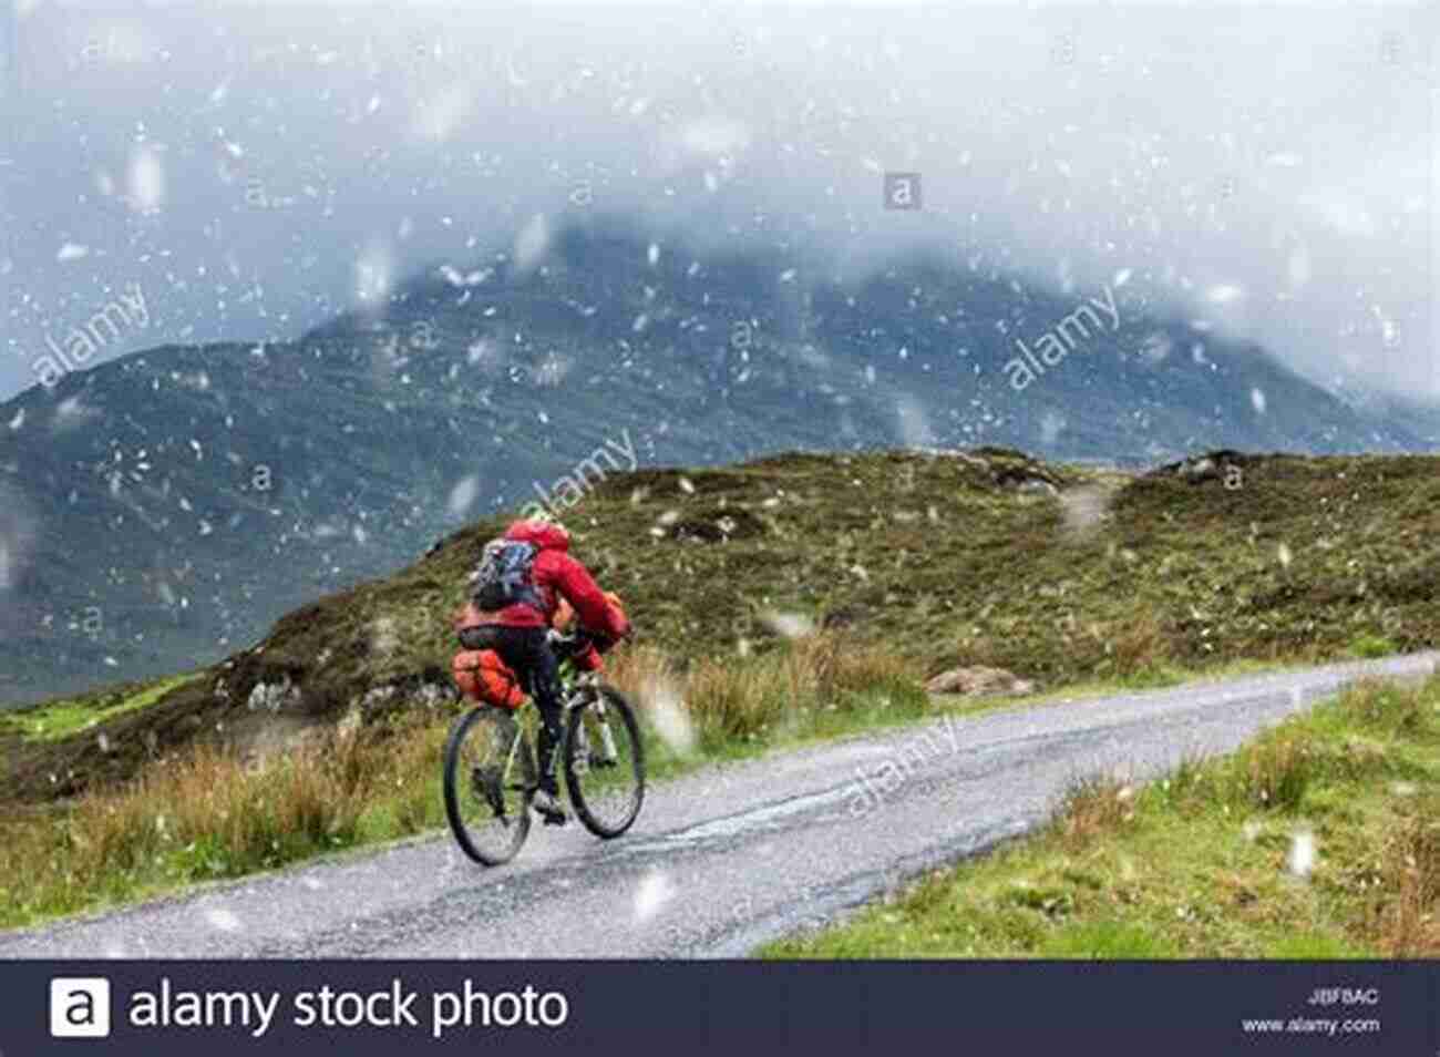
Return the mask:
MULTIPOLYGON (((658 651, 636 649, 615 658, 611 678, 642 706, 657 781, 932 709, 906 661, 842 635, 701 661, 684 674, 658 651)), ((444 827, 439 772, 452 719, 413 710, 268 759, 199 746, 122 788, 12 812, 0 819, 0 927, 444 827)))

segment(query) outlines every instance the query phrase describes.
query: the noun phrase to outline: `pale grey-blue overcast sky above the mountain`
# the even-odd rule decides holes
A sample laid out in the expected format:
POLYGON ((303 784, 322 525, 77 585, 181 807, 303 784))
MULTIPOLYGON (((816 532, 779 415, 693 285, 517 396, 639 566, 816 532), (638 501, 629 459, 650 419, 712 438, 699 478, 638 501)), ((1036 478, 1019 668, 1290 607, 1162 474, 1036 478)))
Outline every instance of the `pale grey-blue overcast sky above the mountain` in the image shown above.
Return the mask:
POLYGON ((294 337, 566 212, 933 242, 1440 396, 1434 4, 472 7, 20 0, 0 399, 111 305, 91 363, 294 337))

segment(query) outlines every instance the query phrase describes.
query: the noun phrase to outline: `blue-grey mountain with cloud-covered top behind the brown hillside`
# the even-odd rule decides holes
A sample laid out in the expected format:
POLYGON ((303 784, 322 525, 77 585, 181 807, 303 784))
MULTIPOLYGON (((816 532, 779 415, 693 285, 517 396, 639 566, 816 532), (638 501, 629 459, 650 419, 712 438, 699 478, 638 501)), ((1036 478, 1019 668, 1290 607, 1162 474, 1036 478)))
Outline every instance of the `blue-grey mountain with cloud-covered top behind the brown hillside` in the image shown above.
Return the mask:
POLYGON ((1204 327, 973 258, 854 278, 783 245, 534 225, 300 340, 164 346, 0 405, 0 701, 207 664, 475 517, 632 465, 1433 449, 1424 412, 1204 327))

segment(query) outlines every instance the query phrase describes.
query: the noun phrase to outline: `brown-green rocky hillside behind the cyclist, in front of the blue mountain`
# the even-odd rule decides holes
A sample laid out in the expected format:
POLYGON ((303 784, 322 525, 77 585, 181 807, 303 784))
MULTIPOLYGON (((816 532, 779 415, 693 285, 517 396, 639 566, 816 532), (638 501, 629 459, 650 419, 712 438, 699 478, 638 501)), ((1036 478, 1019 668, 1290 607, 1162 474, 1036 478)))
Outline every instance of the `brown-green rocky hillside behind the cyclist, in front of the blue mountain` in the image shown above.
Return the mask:
MULTIPOLYGON (((566 520, 642 641, 678 658, 765 651, 811 624, 884 642, 919 674, 994 664, 1056 687, 1436 645, 1437 471, 1378 455, 1217 452, 1126 472, 998 448, 786 454, 612 475, 566 520)), ((13 714, 7 792, 73 793, 196 737, 279 745, 343 716, 442 706, 446 616, 503 524, 467 526, 393 576, 295 609, 95 727, 71 716, 79 733, 27 739, 43 713, 13 714)))

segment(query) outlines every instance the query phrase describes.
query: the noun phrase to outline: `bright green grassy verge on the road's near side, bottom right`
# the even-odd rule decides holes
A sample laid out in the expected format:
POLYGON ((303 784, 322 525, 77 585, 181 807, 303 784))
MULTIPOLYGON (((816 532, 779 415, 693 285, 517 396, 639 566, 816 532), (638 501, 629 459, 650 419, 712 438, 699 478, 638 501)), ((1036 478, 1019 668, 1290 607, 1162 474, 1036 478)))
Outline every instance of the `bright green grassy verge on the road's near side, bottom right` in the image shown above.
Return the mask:
POLYGON ((1440 956, 1440 678, 1070 791, 1044 831, 772 958, 1440 956))

